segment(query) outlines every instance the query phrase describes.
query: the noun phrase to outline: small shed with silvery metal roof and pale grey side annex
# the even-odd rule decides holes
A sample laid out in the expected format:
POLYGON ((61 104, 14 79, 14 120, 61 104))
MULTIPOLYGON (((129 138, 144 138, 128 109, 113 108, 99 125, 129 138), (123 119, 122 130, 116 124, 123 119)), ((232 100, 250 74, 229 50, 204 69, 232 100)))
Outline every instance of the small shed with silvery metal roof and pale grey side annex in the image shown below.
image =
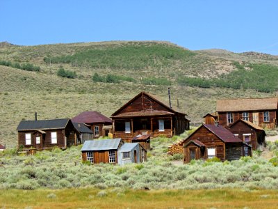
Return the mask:
POLYGON ((140 163, 147 160, 147 151, 138 143, 124 143, 122 139, 85 141, 81 148, 82 160, 91 164, 140 163))

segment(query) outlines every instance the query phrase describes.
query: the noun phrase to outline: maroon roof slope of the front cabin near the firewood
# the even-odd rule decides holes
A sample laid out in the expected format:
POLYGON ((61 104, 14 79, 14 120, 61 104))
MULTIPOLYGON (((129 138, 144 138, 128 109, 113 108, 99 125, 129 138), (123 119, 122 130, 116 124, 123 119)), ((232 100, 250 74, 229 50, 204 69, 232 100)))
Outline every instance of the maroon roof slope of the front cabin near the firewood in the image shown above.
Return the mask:
POLYGON ((234 136, 232 132, 227 130, 226 128, 222 127, 221 125, 208 125, 208 124, 203 124, 204 127, 206 127, 209 131, 211 131, 213 134, 215 134, 219 139, 224 141, 225 143, 229 142, 243 142, 241 141, 238 137, 234 136))

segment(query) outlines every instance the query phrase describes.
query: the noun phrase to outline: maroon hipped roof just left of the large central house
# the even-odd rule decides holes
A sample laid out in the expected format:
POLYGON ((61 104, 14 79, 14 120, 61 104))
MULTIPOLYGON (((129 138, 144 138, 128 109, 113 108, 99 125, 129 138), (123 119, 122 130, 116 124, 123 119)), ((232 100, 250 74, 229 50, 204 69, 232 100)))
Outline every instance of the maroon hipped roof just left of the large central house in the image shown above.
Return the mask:
POLYGON ((78 116, 72 118, 74 123, 111 123, 111 118, 107 118, 98 111, 83 111, 78 116))

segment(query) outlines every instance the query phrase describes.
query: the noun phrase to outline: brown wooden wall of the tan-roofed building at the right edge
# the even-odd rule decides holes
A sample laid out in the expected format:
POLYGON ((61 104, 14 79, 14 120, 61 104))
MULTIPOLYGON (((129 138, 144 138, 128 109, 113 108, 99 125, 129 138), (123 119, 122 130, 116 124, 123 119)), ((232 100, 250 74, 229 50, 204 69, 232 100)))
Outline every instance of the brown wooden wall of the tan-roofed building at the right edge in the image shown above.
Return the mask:
MULTIPOLYGON (((270 129, 273 129, 277 126, 277 111, 275 110, 265 110, 265 111, 239 111, 239 112, 232 112, 233 117, 234 117, 234 122, 237 121, 238 119, 243 119, 243 112, 248 112, 249 114, 249 121, 254 123, 253 120, 253 113, 258 113, 259 114, 259 126, 260 127, 267 127, 270 129), (270 114, 270 121, 269 122, 265 122, 263 121, 263 112, 265 111, 269 111, 270 114)), ((227 127, 228 122, 227 122, 227 113, 228 112, 218 112, 218 121, 219 121, 219 125, 222 125, 224 127, 227 127)))

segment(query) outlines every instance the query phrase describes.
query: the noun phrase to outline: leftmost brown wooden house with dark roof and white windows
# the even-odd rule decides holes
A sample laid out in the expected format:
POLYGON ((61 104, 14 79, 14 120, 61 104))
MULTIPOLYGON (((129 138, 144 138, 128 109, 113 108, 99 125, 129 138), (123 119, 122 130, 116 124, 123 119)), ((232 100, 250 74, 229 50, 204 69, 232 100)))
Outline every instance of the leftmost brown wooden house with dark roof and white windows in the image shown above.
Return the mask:
POLYGON ((77 132, 70 118, 21 121, 17 127, 18 146, 43 150, 47 148, 67 148, 68 138, 77 132))

